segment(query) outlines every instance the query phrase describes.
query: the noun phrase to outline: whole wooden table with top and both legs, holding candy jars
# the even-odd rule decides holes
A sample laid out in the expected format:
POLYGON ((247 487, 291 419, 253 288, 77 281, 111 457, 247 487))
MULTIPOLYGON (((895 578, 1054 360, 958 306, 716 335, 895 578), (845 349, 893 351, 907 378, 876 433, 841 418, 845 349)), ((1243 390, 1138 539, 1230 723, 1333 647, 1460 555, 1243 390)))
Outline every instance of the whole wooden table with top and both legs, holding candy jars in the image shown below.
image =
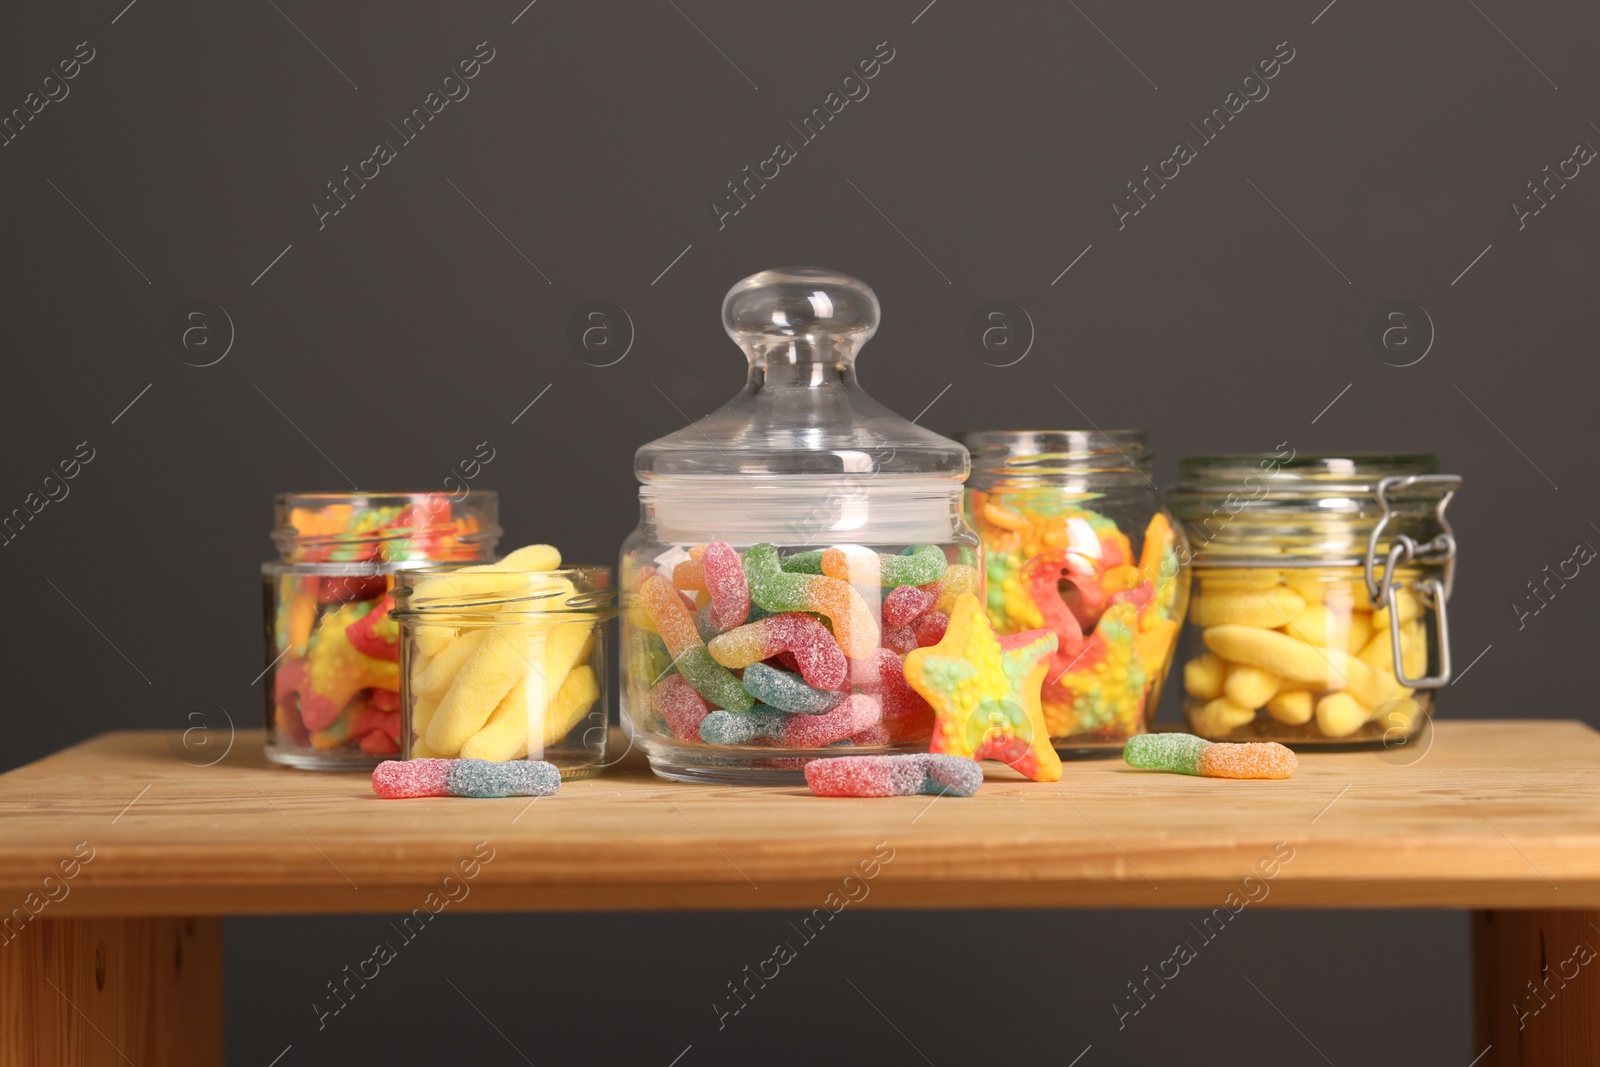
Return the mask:
POLYGON ((195 766, 170 734, 112 733, 0 776, 0 1064, 221 1064, 226 915, 829 894, 1472 909, 1478 1062, 1600 1062, 1600 965, 1579 961, 1600 949, 1600 734, 1579 723, 1443 721, 1426 753, 1302 755, 1286 782, 997 766, 970 800, 680 785, 629 753, 531 805, 382 801, 362 774, 269 765, 261 741, 195 766), (1518 1032, 1523 1013, 1539 1024, 1518 1032))

